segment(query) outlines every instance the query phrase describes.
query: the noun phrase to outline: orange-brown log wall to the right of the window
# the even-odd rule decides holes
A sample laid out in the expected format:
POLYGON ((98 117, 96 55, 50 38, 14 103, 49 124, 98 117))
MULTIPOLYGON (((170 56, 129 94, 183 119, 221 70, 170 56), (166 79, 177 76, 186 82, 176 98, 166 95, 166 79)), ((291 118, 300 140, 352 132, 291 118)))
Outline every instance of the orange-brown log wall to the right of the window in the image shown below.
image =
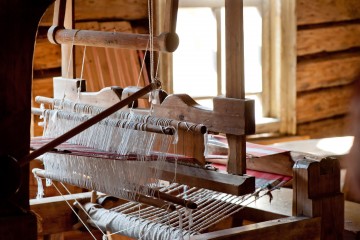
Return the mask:
POLYGON ((297 133, 349 132, 353 83, 360 78, 360 1, 297 0, 297 133))

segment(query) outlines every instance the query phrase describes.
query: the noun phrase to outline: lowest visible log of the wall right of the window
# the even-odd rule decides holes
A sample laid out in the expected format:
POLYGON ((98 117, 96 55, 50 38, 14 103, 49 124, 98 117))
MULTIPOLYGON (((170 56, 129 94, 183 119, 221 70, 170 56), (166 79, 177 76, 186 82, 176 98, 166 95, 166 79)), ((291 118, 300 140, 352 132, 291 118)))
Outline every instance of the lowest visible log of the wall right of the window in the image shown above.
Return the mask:
POLYGON ((297 134, 310 138, 346 136, 352 134, 349 129, 350 117, 342 115, 297 125, 297 134))

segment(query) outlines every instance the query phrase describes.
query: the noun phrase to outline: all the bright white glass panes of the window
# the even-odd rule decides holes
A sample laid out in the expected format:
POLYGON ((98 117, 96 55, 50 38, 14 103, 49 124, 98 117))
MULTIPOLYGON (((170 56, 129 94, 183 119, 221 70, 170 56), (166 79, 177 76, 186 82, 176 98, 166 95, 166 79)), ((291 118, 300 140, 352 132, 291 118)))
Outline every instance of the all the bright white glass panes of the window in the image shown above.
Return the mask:
MULTIPOLYGON (((261 4, 244 6, 245 92, 255 99, 262 117, 261 4)), ((225 95, 225 10, 221 9, 221 49, 217 49, 217 23, 211 8, 180 8, 177 20, 179 48, 173 54, 173 91, 192 97, 216 96, 217 51, 221 53, 221 93, 225 95)), ((209 101, 202 101, 208 103, 209 101)), ((206 104, 210 105, 210 104, 206 104)))

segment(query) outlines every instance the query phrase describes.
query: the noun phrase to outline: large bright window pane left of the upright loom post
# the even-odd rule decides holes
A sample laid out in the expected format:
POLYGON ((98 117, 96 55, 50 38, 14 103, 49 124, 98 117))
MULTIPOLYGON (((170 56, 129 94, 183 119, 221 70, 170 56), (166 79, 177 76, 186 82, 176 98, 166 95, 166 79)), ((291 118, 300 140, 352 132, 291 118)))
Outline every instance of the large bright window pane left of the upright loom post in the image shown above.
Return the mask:
POLYGON ((215 96, 216 21, 210 8, 180 8, 176 31, 180 45, 173 54, 174 92, 215 96))

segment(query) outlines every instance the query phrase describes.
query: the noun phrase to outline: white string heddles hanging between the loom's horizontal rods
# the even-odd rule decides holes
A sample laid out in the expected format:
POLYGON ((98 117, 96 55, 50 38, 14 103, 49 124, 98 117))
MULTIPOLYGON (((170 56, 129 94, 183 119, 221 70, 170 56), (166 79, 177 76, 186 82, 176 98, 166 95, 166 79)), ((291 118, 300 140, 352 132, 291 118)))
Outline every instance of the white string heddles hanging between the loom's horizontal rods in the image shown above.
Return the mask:
MULTIPOLYGON (((151 195, 149 188, 144 186, 157 185, 159 176, 154 169, 162 169, 174 136, 134 130, 135 124, 140 124, 140 128, 145 127, 145 123, 137 122, 136 119, 146 117, 132 117, 132 114, 126 116, 128 119, 125 120, 107 118, 68 141, 118 154, 118 158, 124 160, 49 153, 44 156, 47 176, 129 200, 136 200, 135 193, 151 195), (154 168, 147 167, 147 161, 152 161, 154 168)), ((45 114, 44 136, 57 137, 88 118, 88 115, 49 111, 45 114)), ((167 123, 157 124, 166 126, 167 123)))

